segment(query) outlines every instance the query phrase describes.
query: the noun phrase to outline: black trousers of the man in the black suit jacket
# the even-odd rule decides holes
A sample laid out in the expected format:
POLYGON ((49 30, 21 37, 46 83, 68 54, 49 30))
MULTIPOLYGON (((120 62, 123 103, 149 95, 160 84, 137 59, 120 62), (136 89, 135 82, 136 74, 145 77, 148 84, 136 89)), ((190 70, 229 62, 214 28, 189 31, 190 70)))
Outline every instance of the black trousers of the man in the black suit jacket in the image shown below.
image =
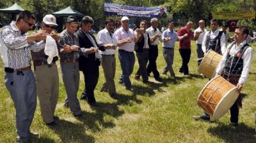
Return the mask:
POLYGON ((89 103, 95 103, 94 89, 98 83, 99 68, 98 65, 90 66, 82 70, 84 74, 85 90, 84 93, 89 103))

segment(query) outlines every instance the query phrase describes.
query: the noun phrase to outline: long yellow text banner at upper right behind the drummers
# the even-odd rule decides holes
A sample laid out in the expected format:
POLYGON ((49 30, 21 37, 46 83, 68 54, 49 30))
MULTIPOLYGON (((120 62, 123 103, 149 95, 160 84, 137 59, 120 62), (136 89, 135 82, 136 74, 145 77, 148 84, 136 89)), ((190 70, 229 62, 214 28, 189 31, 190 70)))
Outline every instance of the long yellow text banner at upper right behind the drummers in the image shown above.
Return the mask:
POLYGON ((242 12, 213 12, 212 17, 216 19, 254 19, 255 11, 242 12))

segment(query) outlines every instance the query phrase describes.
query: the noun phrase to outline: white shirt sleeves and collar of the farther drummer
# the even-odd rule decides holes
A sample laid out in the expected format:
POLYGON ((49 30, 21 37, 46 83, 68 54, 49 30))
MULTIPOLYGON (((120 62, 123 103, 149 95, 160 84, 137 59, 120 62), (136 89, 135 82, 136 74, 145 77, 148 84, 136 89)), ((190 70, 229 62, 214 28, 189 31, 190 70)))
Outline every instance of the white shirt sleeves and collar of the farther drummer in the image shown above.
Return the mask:
MULTIPOLYGON (((204 39, 203 39, 203 43, 202 43, 202 50, 203 50, 203 52, 206 52, 205 45, 207 44, 207 35, 209 34, 209 32, 210 31, 207 31, 205 33, 205 35, 204 35, 204 39)), ((210 32, 210 39, 214 39, 215 37, 217 37, 218 36, 218 32, 220 32, 220 31, 218 31, 218 30, 216 30, 214 32, 211 31, 210 32)), ((225 34, 224 33, 222 33, 222 35, 221 35, 220 46, 221 46, 221 54, 224 54, 225 51, 226 51, 226 41, 225 41, 225 34)))

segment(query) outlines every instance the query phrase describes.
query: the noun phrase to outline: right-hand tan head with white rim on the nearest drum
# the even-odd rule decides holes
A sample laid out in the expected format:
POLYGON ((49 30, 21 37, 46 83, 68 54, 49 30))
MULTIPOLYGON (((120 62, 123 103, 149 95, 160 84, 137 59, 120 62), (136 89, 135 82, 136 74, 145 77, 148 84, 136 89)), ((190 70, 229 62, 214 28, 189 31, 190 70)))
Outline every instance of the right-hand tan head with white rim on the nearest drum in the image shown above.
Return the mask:
POLYGON ((234 87, 223 96, 223 98, 220 100, 220 102, 217 104, 214 110, 214 113, 213 113, 214 119, 217 120, 220 117, 222 117, 233 106, 234 102, 236 102, 239 95, 236 90, 237 90, 237 87, 234 87))

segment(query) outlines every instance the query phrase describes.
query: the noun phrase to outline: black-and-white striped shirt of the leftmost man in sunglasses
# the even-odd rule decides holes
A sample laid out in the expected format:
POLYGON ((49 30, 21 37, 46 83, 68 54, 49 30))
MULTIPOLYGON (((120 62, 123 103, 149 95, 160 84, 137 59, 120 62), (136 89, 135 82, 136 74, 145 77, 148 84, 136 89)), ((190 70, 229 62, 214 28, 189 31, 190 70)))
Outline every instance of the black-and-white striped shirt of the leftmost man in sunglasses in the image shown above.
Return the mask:
POLYGON ((39 52, 46 45, 44 41, 27 43, 28 34, 19 31, 15 22, 3 27, 0 37, 1 57, 6 68, 21 69, 31 66, 30 51, 39 52))

